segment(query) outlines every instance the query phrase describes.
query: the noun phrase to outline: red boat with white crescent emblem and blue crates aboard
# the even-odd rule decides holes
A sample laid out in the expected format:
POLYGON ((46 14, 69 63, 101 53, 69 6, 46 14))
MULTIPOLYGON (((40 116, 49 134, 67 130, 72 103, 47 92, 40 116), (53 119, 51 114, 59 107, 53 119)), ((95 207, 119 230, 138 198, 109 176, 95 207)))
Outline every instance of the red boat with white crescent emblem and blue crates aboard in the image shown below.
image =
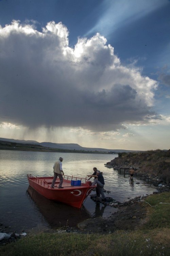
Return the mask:
POLYGON ((31 174, 27 174, 27 178, 30 186, 39 194, 48 199, 63 202, 77 208, 81 208, 83 201, 95 187, 91 186, 91 181, 87 181, 86 178, 67 175, 63 177, 63 189, 58 189, 59 178, 56 179, 54 189, 51 188, 53 177, 34 177, 31 174))

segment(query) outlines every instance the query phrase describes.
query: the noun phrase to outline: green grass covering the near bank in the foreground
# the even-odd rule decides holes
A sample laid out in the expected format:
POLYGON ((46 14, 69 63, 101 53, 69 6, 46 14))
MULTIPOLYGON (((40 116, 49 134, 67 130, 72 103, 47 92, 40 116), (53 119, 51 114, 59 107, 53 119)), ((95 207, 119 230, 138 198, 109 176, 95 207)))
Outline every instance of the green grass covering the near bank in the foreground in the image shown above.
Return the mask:
POLYGON ((120 230, 107 235, 42 233, 0 247, 0 255, 169 256, 170 193, 149 196, 146 201, 156 206, 143 202, 148 211, 148 222, 135 231, 120 230))

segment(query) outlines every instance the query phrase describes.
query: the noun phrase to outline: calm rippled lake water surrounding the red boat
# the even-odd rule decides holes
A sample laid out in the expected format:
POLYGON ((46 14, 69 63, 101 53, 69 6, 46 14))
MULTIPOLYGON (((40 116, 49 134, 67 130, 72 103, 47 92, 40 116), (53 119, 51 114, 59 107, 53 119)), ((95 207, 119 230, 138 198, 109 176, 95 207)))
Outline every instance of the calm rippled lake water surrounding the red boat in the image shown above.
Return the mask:
MULTIPOLYGON (((11 226, 11 232, 38 232, 63 226, 75 227, 79 222, 97 217, 108 217, 115 208, 95 204, 87 197, 81 209, 48 200, 34 191, 28 183, 27 174, 53 176, 53 164, 63 157, 65 175, 86 177, 93 167, 103 171, 106 196, 120 202, 143 194, 152 194, 156 188, 145 181, 104 166, 118 155, 51 153, 0 150, 0 223, 11 226), (136 184, 140 182, 140 184, 136 184)), ((92 178, 91 178, 92 180, 92 178)), ((91 194, 95 194, 92 192, 91 194)), ((9 230, 10 232, 10 230, 9 230)))

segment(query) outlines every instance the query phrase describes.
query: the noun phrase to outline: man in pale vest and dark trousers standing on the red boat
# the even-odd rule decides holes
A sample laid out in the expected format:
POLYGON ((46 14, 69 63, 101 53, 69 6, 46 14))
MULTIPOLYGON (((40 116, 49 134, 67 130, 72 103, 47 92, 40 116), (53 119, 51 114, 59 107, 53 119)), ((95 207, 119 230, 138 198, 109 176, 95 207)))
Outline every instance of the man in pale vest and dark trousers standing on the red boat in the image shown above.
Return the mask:
POLYGON ((52 184, 51 184, 52 189, 54 189, 54 184, 55 184, 55 181, 56 181, 57 177, 60 179, 60 184, 58 185, 58 189, 63 189, 62 184, 63 184, 64 172, 63 172, 63 169, 62 169, 62 162, 63 162, 63 158, 60 157, 59 160, 57 160, 54 163, 54 166, 53 166, 54 179, 53 179, 52 184))

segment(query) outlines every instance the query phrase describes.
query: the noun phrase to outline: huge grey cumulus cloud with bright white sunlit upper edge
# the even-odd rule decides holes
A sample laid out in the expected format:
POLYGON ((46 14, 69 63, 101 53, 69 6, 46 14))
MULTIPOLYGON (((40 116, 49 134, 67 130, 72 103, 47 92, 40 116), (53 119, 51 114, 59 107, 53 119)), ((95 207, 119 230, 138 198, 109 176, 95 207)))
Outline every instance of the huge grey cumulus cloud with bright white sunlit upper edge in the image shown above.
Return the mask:
POLYGON ((71 48, 62 22, 39 32, 14 20, 0 45, 1 123, 116 131, 162 118, 152 111, 157 82, 123 66, 99 33, 71 48))

